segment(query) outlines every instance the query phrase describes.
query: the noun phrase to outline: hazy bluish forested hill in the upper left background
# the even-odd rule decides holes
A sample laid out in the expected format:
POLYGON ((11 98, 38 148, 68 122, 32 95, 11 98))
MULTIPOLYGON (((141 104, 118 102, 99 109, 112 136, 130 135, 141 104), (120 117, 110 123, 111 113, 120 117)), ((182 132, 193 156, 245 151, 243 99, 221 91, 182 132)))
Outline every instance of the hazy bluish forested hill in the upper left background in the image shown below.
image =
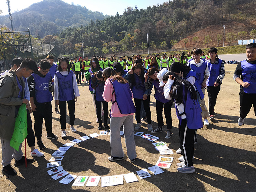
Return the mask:
MULTIPOLYGON (((60 0, 44 0, 34 3, 22 11, 14 12, 12 16, 13 28, 16 31, 29 28, 33 36, 39 35, 41 38, 60 33, 66 27, 85 26, 91 20, 102 20, 108 17, 101 12, 93 12, 86 7, 70 5, 60 0)), ((9 16, 0 16, 0 24, 11 28, 9 16)))

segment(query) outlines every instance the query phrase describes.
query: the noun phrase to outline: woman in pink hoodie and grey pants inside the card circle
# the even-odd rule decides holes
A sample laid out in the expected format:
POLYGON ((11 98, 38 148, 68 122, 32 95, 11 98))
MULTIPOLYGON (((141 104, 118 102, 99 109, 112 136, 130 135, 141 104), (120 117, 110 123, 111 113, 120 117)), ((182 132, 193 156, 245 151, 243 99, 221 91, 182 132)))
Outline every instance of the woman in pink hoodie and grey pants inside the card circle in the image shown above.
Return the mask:
POLYGON ((124 159, 120 136, 120 127, 123 125, 127 156, 131 162, 135 162, 137 155, 133 133, 133 114, 136 109, 132 101, 133 94, 127 80, 117 75, 113 69, 104 69, 102 75, 106 81, 103 98, 106 102, 112 101, 110 111, 111 156, 108 159, 109 161, 124 159))

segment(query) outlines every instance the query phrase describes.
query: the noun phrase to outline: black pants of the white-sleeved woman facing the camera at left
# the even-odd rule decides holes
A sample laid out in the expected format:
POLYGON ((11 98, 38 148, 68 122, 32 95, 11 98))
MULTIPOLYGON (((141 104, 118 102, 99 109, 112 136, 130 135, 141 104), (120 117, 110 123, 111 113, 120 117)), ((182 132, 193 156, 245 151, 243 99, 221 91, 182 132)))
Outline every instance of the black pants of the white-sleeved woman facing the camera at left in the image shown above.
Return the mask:
POLYGON ((74 126, 75 122, 75 100, 70 101, 60 101, 59 100, 59 112, 60 112, 60 127, 61 129, 66 129, 66 117, 67 117, 67 105, 69 109, 69 124, 74 126))

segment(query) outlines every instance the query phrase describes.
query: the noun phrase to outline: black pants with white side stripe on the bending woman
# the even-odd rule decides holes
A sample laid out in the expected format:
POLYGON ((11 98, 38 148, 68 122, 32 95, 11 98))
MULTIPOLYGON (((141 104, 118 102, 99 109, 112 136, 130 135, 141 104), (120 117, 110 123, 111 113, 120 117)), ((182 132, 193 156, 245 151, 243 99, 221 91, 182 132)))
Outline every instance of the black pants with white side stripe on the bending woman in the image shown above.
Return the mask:
POLYGON ((193 165, 195 129, 187 127, 187 119, 182 119, 179 124, 181 154, 184 157, 185 165, 191 167, 193 165))

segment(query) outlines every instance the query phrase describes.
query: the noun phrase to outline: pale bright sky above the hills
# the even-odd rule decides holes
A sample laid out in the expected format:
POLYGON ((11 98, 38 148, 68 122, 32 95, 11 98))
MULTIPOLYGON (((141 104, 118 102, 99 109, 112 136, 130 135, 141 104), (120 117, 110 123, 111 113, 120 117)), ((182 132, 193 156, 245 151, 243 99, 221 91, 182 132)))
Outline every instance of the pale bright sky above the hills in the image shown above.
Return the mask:
MULTIPOLYGON (((38 3, 42 0, 9 0, 11 6, 11 12, 21 11, 27 7, 29 7, 33 3, 38 3)), ((138 9, 146 9, 148 6, 157 5, 157 3, 163 4, 163 2, 167 2, 169 0, 94 0, 94 3, 88 3, 88 0, 63 0, 66 3, 74 3, 74 5, 85 6, 87 9, 91 11, 99 11, 104 15, 116 15, 118 12, 120 15, 124 13, 124 9, 128 6, 131 6, 133 9, 135 5, 137 5, 138 9), (102 5, 102 6, 99 6, 102 5), (114 12, 110 12, 109 10, 116 10, 114 12)), ((90 2, 90 1, 89 1, 90 2)), ((6 0, 0 0, 0 10, 2 10, 2 15, 8 14, 8 6, 6 0)))

